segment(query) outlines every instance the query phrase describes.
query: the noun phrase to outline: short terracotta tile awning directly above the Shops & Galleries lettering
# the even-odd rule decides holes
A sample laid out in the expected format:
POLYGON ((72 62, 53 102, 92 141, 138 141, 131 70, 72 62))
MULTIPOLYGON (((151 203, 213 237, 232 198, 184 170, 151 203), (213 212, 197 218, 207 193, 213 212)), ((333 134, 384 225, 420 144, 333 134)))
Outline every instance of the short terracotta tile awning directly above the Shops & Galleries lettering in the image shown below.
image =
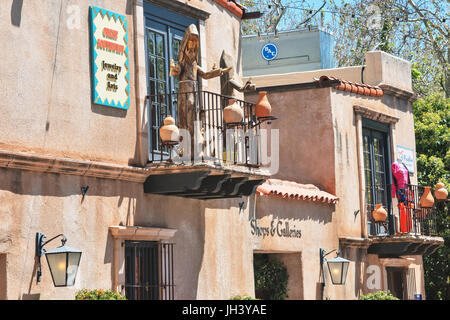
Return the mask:
POLYGON ((268 179, 256 189, 260 196, 275 195, 283 198, 337 203, 338 198, 320 190, 312 184, 300 184, 293 181, 268 179))

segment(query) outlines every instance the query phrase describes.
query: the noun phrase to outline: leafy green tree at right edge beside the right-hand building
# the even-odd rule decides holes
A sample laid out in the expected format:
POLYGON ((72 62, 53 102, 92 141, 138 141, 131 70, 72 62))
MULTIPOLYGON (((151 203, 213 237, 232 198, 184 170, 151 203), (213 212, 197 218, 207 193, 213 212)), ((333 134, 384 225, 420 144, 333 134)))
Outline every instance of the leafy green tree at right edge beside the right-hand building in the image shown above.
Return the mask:
MULTIPOLYGON (((432 94, 414 105, 419 185, 438 181, 450 190, 450 99, 432 94)), ((438 235, 444 245, 424 256, 425 293, 428 300, 450 299, 450 214, 448 203, 436 205, 438 235)))

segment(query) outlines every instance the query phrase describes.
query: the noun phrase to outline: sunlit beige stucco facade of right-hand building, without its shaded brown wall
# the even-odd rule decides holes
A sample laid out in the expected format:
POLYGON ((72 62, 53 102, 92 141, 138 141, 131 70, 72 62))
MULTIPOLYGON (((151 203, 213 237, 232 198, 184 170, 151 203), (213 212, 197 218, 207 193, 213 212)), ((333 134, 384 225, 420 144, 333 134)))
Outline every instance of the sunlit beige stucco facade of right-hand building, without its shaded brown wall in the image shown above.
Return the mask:
MULTIPOLYGON (((315 286, 321 282, 317 272, 319 248, 327 252, 338 249, 341 256, 352 261, 344 286, 325 279, 323 298, 357 299, 360 294, 388 290, 387 270, 392 267, 408 272, 405 298, 412 299, 412 291, 425 295, 422 255, 389 258, 368 253, 374 238, 368 235, 370 213, 364 206, 362 119, 389 126, 392 161, 398 157, 398 145, 415 152, 410 66, 384 52, 366 54, 364 83, 383 88, 382 97, 314 85, 321 76, 362 83, 361 74, 361 67, 349 67, 252 77, 260 90, 268 92, 272 114, 279 118, 272 129, 280 134, 280 170, 272 178, 314 184, 339 198, 337 204, 329 205, 289 197, 258 197, 256 215, 260 224, 282 213, 302 226, 300 239, 265 239, 256 246, 261 252, 279 251, 286 257, 296 253, 301 257, 298 266, 303 281, 294 299, 320 297, 320 286, 315 286), (311 85, 301 87, 307 83, 311 85)), ((257 101, 258 97, 249 93, 246 98, 257 101)), ((417 183, 415 161, 410 179, 412 184, 417 183)), ((397 200, 393 201, 396 205, 397 200)))

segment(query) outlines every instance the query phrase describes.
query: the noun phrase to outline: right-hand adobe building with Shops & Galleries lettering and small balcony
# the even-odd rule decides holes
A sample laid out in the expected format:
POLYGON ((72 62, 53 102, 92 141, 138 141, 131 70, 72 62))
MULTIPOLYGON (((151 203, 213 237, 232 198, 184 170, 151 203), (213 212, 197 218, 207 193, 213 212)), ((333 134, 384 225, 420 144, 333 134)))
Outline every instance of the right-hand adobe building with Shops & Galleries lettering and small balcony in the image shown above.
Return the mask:
POLYGON ((425 207, 417 186, 410 64, 381 51, 365 61, 252 77, 279 117, 272 130, 280 141, 280 168, 258 187, 254 219, 265 227, 282 219, 301 230, 301 237, 258 236, 254 250, 286 261, 298 281, 290 284, 294 299, 356 299, 379 290, 425 299, 422 257, 443 244, 438 201, 425 207), (399 186, 406 201, 393 186, 400 160, 409 177, 399 186), (383 221, 372 214, 378 203, 383 221), (345 285, 333 285, 327 272, 321 277, 321 249, 351 261, 345 285))

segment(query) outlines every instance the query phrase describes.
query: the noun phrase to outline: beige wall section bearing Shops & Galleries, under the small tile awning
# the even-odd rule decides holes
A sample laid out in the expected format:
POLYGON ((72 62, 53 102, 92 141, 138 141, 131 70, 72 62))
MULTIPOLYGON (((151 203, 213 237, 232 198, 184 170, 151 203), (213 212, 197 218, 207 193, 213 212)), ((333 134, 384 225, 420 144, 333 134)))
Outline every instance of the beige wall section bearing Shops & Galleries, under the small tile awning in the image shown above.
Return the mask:
MULTIPOLYGON (((334 205, 325 203, 276 196, 257 197, 255 218, 258 227, 276 228, 278 221, 281 221, 280 230, 288 223, 289 229, 301 231, 301 237, 279 236, 277 230, 266 236, 257 233, 253 235, 253 249, 256 252, 283 254, 281 260, 288 270, 292 268, 292 260, 297 263, 301 274, 293 272, 289 283, 294 299, 320 299, 319 283, 322 278, 319 249, 323 248, 328 252, 339 244, 334 210, 334 205), (271 225, 272 221, 275 221, 274 225, 271 225)), ((328 294, 333 292, 334 297, 339 299, 338 293, 333 291, 335 288, 329 290, 328 294)))

